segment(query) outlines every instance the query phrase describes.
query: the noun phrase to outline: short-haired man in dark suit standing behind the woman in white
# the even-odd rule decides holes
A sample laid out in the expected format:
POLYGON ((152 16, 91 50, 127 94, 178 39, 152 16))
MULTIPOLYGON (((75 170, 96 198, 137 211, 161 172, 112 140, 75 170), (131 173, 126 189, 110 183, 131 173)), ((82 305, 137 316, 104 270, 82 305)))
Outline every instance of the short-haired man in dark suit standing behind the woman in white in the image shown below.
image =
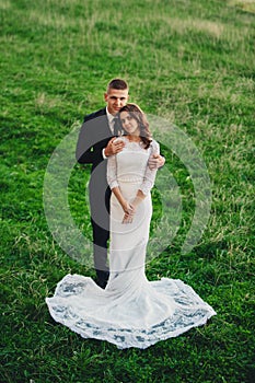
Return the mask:
MULTIPOLYGON (((118 111, 128 102, 128 84, 125 80, 114 79, 108 85, 104 100, 106 107, 84 117, 77 143, 77 161, 92 164, 89 183, 91 223, 93 229, 93 252, 96 282, 105 288, 108 280, 107 241, 109 239, 109 198, 111 189, 106 181, 107 158, 119 153, 124 142, 114 142, 120 135, 118 111)), ((153 155, 149 166, 161 167, 164 158, 153 155)))

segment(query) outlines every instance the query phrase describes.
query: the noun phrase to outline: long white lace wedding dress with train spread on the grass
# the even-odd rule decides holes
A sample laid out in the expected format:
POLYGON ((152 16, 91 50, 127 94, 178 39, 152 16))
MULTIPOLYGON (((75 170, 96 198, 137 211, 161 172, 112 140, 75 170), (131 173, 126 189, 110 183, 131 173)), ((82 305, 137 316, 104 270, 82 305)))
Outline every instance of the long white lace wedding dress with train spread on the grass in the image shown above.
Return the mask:
POLYGON ((138 142, 124 140, 124 150, 108 159, 109 186, 118 185, 130 201, 138 189, 147 197, 132 223, 124 224, 123 209, 112 194, 111 276, 106 289, 89 277, 67 275, 46 302, 55 321, 84 338, 107 340, 119 349, 147 348, 205 324, 216 312, 181 280, 148 281, 146 247, 152 213, 150 189, 155 177, 148 159, 159 152, 159 144, 153 141, 146 150, 138 142))

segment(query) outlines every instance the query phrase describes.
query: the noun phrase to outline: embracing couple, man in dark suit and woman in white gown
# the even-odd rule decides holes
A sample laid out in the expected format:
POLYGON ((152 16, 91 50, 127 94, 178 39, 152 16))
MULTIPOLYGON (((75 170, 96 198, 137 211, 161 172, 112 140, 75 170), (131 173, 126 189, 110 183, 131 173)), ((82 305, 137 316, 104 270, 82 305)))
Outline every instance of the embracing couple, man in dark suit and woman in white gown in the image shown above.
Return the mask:
POLYGON ((112 80, 106 107, 85 116, 77 160, 92 164, 89 185, 96 282, 67 275, 47 298, 53 317, 84 338, 147 348, 202 325, 213 309, 181 280, 146 277, 157 170, 164 165, 146 115, 112 80), (109 254, 107 243, 109 240, 109 254))

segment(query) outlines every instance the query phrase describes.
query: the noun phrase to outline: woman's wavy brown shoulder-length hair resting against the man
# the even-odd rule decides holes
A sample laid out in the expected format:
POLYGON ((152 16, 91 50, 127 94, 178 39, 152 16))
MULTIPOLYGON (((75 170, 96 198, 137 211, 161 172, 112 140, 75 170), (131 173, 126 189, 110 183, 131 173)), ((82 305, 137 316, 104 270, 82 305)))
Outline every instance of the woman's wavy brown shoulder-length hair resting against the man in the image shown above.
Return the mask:
POLYGON ((118 111, 119 116, 120 116, 121 112, 127 112, 132 118, 135 118, 137 120, 138 126, 140 128, 140 135, 139 135, 140 139, 144 143, 144 149, 148 149, 150 147, 152 138, 151 138, 151 132, 149 129, 149 123, 146 118, 144 113, 140 109, 140 107, 138 105, 131 104, 131 103, 123 106, 118 111))

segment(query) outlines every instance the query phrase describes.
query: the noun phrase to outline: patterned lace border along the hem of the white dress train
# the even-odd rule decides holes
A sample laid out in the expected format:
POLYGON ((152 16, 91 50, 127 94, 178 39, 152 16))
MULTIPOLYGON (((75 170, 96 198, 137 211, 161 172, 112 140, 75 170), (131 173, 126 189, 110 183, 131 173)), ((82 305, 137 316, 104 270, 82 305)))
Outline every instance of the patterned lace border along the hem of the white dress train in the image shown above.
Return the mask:
MULTIPOLYGON (((57 322, 68 326, 82 337, 107 340, 115 344, 119 349, 129 347, 147 348, 159 340, 176 337, 192 327, 204 325, 208 318, 216 315, 213 309, 204 302, 189 286, 181 280, 162 278, 161 281, 164 282, 164 286, 161 286, 159 290, 161 292, 166 292, 165 289, 167 289, 167 291, 171 290, 171 297, 177 304, 177 309, 171 317, 150 328, 137 329, 119 328, 115 325, 115 327, 103 326, 102 324, 96 324, 93 318, 79 317, 71 311, 71 306, 61 304, 54 304, 50 306, 50 313, 57 322)), ((82 282, 67 283, 66 286, 62 283, 59 286, 57 295, 67 297, 73 295, 73 293, 80 294, 84 289, 84 285, 85 283, 82 282)))

